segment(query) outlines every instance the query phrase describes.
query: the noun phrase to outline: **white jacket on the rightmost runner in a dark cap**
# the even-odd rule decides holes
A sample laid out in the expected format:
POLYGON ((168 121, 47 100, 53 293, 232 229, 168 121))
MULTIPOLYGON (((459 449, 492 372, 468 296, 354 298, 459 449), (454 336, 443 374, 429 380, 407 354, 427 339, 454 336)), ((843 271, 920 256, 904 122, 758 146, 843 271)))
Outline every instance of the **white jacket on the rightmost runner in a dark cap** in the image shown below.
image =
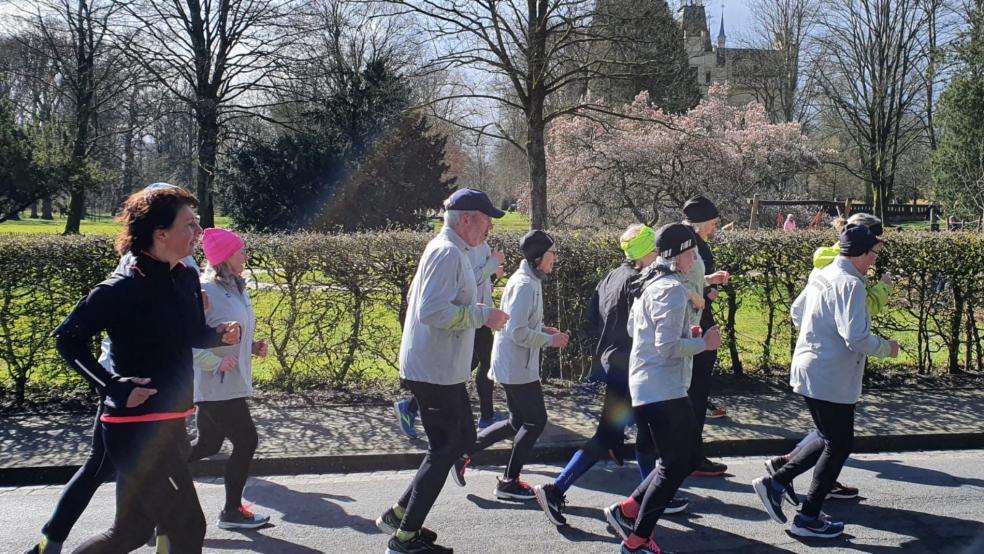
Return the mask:
POLYGON ((845 257, 810 274, 790 310, 799 328, 789 384, 816 400, 856 404, 865 357, 886 357, 889 341, 871 333, 864 276, 845 257))

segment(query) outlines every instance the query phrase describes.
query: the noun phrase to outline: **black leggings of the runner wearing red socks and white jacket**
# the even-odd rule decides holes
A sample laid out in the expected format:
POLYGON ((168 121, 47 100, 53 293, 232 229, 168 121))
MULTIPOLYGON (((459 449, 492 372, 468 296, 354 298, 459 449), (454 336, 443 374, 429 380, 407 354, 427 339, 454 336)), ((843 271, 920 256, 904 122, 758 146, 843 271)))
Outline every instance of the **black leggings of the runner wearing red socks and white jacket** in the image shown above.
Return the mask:
POLYGON ((700 462, 697 424, 686 396, 637 406, 635 413, 639 433, 648 431, 662 454, 656 469, 632 492, 641 506, 634 533, 649 538, 667 503, 700 462))

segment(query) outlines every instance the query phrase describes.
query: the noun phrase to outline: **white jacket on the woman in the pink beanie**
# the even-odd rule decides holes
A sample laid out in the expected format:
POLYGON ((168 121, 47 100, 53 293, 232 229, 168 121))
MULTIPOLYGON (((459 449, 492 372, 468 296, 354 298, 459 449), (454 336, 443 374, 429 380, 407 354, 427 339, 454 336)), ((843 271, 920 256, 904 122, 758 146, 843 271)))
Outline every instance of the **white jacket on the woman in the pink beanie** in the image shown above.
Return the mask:
POLYGON ((205 321, 212 326, 224 321, 238 321, 242 326, 239 344, 218 348, 196 349, 195 352, 195 402, 215 402, 253 396, 253 339, 256 336, 256 317, 249 290, 229 290, 208 281, 202 283, 208 295, 209 308, 205 321), (239 365, 233 371, 218 371, 222 358, 236 356, 239 365))

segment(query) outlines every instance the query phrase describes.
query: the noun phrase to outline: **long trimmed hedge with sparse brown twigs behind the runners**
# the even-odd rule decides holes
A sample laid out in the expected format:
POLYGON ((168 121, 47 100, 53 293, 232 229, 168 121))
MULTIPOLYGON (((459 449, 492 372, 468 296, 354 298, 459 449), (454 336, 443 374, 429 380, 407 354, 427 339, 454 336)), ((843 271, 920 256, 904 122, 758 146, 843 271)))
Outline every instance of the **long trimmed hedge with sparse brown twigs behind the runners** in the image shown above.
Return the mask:
MULTIPOLYGON (((491 239, 507 252, 508 270, 520 258, 518 236, 491 239)), ((258 336, 271 346, 270 357, 258 361, 260 386, 392 384, 406 294, 430 237, 247 236, 249 271, 258 283, 258 336)), ((547 351, 544 371, 583 380, 591 372, 584 310, 620 252, 614 234, 555 238, 559 261, 544 283, 545 318, 572 331, 573 340, 567 349, 547 351)), ((789 304, 805 283, 814 249, 833 241, 832 233, 820 231, 740 231, 714 241, 719 268, 732 274, 715 303, 725 337, 722 370, 784 370, 794 339, 789 304)), ((83 386, 59 360, 48 333, 116 261, 108 237, 0 237, 0 394, 20 402, 29 389, 83 386)), ((896 275, 890 308, 875 321, 883 335, 903 339, 908 357, 892 362, 896 367, 922 374, 984 368, 981 235, 893 233, 878 264, 896 275)))

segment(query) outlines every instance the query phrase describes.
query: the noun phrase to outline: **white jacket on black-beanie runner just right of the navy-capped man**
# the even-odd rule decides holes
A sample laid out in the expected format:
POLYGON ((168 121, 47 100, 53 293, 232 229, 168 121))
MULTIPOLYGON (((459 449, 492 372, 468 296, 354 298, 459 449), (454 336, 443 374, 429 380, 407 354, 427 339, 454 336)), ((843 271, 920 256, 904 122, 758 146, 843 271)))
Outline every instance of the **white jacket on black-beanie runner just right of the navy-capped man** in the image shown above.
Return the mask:
POLYGON ((497 383, 522 385, 540 380, 540 349, 553 337, 543 332, 543 284, 523 260, 502 293, 509 321, 492 342, 489 376, 497 383))

